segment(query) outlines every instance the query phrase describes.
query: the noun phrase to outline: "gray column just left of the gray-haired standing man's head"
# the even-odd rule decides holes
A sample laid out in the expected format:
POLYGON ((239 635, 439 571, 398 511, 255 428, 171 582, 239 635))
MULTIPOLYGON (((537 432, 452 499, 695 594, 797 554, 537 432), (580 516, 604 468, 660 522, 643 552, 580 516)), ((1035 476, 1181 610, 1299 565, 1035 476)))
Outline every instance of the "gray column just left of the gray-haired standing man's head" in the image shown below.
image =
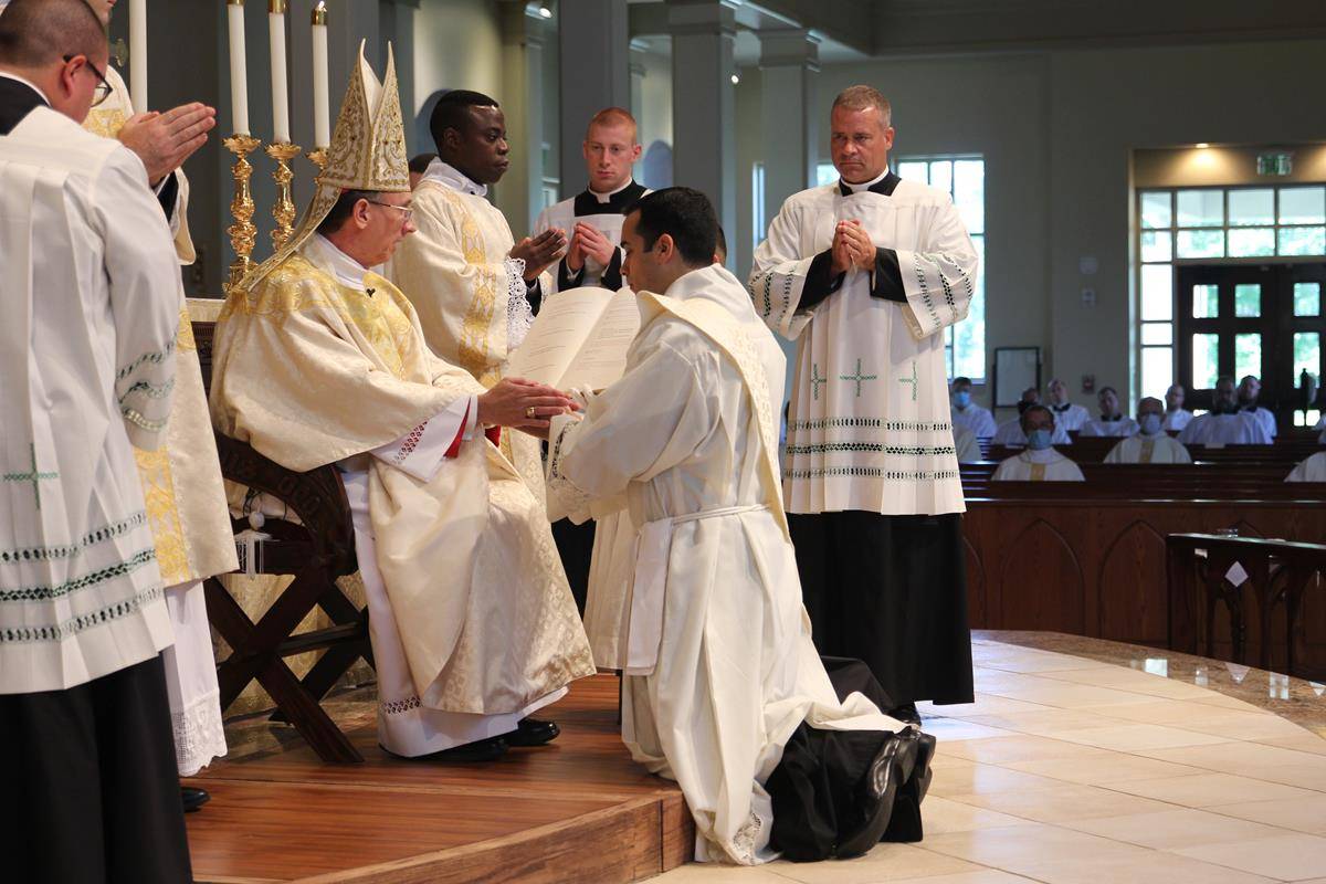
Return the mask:
MULTIPOLYGON (((760 32, 765 227, 793 193, 815 180, 819 41, 801 29, 760 32)), ((762 233, 762 231, 761 231, 762 233)))

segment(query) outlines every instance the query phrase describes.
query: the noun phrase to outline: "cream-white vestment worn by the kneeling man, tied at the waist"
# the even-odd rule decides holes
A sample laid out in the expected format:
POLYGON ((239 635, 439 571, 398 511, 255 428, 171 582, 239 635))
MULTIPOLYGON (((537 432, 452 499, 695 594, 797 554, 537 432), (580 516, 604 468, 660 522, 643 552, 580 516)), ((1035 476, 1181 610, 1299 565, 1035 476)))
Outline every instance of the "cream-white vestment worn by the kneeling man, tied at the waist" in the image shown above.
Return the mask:
POLYGON ((839 702, 810 640, 776 456, 784 358, 741 284, 709 266, 640 304, 626 376, 553 421, 549 500, 583 520, 625 493, 640 534, 622 737, 682 786, 697 860, 761 863, 764 782, 802 721, 902 725, 839 702))

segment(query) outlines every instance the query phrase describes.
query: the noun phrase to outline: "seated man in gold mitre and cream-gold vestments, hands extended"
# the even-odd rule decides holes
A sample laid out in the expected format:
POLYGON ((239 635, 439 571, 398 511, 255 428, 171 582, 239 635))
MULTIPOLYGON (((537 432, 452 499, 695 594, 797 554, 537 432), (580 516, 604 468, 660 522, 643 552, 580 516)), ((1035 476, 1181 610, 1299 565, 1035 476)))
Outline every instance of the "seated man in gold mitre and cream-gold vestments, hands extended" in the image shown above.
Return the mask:
POLYGON ((390 52, 379 85, 361 50, 298 231, 216 325, 212 419, 288 469, 341 470, 383 749, 487 759, 553 740, 528 716, 594 672, 542 500, 496 444, 569 400, 434 357, 369 270, 414 232, 399 101, 390 52))

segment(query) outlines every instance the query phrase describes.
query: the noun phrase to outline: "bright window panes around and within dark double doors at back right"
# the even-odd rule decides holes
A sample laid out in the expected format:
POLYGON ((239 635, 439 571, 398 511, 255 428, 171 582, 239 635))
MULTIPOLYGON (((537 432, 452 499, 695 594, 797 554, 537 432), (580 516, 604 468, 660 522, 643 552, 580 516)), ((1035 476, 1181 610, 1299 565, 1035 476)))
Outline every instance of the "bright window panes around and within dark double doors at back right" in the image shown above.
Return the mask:
MULTIPOLYGON (((1139 191, 1136 236, 1139 392, 1160 396, 1175 375, 1174 262, 1326 256, 1326 186, 1139 191)), ((1237 286, 1233 310, 1238 318, 1260 317, 1261 288, 1237 286)), ((1294 315, 1311 317, 1319 311, 1319 284, 1296 285, 1294 315)), ((1216 319, 1219 313, 1216 286, 1196 286, 1192 318, 1216 319)), ((1250 374, 1261 374, 1260 337, 1240 337, 1244 338, 1236 353, 1240 370, 1257 366, 1250 374)), ((1302 346, 1309 347, 1307 343, 1302 346)), ((1204 378, 1213 370, 1215 363, 1207 362, 1213 359, 1213 351, 1208 353, 1205 342, 1201 347, 1195 342, 1192 358, 1196 376, 1204 378)))

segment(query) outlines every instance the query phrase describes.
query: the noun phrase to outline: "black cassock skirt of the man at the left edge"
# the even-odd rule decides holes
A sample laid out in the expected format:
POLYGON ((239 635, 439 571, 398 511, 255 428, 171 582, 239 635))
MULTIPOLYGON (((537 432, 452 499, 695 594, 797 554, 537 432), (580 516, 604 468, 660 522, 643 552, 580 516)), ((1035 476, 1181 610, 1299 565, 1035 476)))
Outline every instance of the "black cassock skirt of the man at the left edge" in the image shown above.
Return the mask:
POLYGON ((68 691, 0 696, 0 879, 192 880, 160 657, 68 691))

